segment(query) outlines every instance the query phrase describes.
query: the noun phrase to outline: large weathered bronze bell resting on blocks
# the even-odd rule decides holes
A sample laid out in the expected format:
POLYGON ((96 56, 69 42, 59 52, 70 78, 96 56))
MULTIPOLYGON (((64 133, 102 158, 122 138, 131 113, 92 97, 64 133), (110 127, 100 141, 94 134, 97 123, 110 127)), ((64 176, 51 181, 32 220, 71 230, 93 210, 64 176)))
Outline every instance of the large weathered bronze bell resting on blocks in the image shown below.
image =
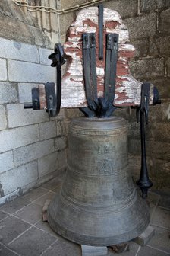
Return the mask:
POLYGON ((68 166, 49 205, 52 229, 72 242, 105 246, 128 242, 150 222, 128 171, 128 126, 121 117, 71 121, 68 166))

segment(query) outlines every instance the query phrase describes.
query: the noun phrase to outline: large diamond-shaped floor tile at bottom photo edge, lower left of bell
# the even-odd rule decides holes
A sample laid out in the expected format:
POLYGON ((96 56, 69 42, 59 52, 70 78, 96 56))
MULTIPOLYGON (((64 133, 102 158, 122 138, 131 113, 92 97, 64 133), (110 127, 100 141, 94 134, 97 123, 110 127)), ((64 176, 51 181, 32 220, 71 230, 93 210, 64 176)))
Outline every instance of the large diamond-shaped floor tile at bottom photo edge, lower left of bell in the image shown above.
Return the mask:
MULTIPOLYGON (((13 251, 22 256, 39 256, 55 242, 56 238, 32 227, 9 245, 13 251)), ((55 254, 56 256, 57 254, 55 254)))

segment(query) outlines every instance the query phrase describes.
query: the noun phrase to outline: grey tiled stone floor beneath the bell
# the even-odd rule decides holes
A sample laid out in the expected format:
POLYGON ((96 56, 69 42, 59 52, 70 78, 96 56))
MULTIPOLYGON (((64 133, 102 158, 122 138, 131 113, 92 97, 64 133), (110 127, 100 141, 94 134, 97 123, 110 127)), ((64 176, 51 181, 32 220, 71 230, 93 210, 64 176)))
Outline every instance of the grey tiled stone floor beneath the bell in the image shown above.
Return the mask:
MULTIPOLYGON (((54 179, 30 193, 0 207, 0 256, 80 256, 80 245, 68 242, 55 234, 47 222, 42 222, 42 206, 58 192, 54 179)), ((130 242, 124 256, 170 255, 170 198, 149 195, 151 225, 156 234, 144 246, 130 242)), ((115 253, 108 249, 108 255, 115 253)))

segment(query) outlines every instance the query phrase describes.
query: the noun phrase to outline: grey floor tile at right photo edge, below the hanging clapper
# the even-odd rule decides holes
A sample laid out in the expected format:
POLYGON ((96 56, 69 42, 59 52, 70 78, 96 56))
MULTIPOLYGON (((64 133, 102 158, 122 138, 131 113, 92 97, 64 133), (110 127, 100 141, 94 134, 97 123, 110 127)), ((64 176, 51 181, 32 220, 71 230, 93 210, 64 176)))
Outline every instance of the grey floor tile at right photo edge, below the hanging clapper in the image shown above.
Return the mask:
POLYGON ((151 219, 151 224, 170 229, 170 210, 156 207, 151 219))

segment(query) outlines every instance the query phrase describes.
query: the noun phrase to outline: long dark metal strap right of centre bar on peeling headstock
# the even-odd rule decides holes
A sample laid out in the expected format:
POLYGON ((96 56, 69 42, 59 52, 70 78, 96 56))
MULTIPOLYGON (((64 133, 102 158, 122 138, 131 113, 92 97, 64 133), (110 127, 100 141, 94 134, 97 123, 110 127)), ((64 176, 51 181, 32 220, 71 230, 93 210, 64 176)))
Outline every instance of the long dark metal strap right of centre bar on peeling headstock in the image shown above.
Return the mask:
POLYGON ((112 107, 115 98, 116 67, 118 59, 118 34, 106 35, 105 100, 112 107))

